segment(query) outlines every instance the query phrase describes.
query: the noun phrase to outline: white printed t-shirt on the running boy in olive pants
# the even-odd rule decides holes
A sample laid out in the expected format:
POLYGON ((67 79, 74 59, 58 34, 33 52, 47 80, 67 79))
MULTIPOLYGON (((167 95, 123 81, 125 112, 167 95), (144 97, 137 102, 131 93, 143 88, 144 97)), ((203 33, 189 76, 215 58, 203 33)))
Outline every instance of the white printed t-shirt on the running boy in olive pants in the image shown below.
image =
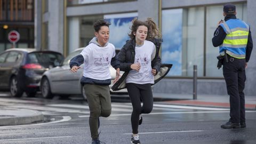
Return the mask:
POLYGON ((106 80, 111 79, 110 62, 115 57, 115 46, 111 43, 104 47, 90 43, 80 53, 84 57, 84 77, 106 80))

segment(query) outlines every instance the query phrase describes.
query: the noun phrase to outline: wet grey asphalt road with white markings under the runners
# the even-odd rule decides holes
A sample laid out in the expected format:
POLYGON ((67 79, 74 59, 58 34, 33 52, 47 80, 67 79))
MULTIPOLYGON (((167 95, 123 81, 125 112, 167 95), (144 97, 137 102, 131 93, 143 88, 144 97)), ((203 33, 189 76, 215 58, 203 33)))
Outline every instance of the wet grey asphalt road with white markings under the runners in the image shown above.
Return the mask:
MULTIPOLYGON (((100 140, 106 143, 130 143, 131 103, 113 100, 112 114, 100 118, 100 140)), ((0 94, 0 105, 42 111, 44 122, 0 126, 0 143, 91 143, 89 108, 79 97, 59 100, 10 98, 0 94)), ((139 126, 141 143, 232 143, 256 142, 256 111, 246 111, 245 129, 221 129, 229 110, 211 107, 187 107, 154 102, 151 114, 142 115, 139 126)))

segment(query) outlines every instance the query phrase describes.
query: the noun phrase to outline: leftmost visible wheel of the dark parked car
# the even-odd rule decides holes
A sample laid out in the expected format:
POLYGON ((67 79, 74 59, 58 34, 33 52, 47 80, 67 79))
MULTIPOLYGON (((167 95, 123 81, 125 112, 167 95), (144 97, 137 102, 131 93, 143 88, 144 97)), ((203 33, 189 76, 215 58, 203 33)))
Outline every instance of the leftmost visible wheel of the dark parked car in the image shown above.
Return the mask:
POLYGON ((10 81, 10 92, 13 97, 21 97, 23 90, 20 87, 18 79, 16 76, 13 76, 10 81))

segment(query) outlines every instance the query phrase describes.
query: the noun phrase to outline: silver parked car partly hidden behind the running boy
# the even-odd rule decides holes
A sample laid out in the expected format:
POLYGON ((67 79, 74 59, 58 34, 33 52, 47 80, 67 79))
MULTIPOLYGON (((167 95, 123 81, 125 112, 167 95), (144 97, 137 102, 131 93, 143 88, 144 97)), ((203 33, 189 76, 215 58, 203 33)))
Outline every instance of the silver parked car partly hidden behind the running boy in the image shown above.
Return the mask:
MULTIPOLYGON (((84 64, 81 65, 77 73, 71 73, 69 67, 70 59, 74 58, 76 55, 79 55, 84 48, 76 49, 74 52, 70 53, 61 66, 52 68, 48 71, 45 71, 41 79, 41 92, 44 98, 51 99, 55 94, 60 95, 61 97, 67 97, 69 95, 83 95, 86 99, 86 95, 83 89, 83 86, 80 83, 80 80, 83 76, 84 64)), ((119 50, 116 50, 116 54, 119 50)), ((113 67, 110 67, 110 74, 112 80, 116 77, 116 70, 113 67)), ((122 74, 122 72, 121 72, 122 74)), ((111 83, 110 87, 113 85, 111 83)), ((127 90, 120 91, 111 91, 111 93, 127 93, 127 90)))

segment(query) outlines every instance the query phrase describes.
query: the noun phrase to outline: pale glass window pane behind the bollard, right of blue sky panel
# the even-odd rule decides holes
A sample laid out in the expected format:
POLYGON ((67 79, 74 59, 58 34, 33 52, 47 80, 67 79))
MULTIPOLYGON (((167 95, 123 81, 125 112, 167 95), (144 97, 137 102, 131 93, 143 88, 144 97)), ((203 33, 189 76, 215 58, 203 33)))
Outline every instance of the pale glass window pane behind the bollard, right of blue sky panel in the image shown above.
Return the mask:
POLYGON ((194 65, 197 65, 198 76, 204 74, 203 28, 204 7, 183 10, 182 76, 193 76, 194 65))

